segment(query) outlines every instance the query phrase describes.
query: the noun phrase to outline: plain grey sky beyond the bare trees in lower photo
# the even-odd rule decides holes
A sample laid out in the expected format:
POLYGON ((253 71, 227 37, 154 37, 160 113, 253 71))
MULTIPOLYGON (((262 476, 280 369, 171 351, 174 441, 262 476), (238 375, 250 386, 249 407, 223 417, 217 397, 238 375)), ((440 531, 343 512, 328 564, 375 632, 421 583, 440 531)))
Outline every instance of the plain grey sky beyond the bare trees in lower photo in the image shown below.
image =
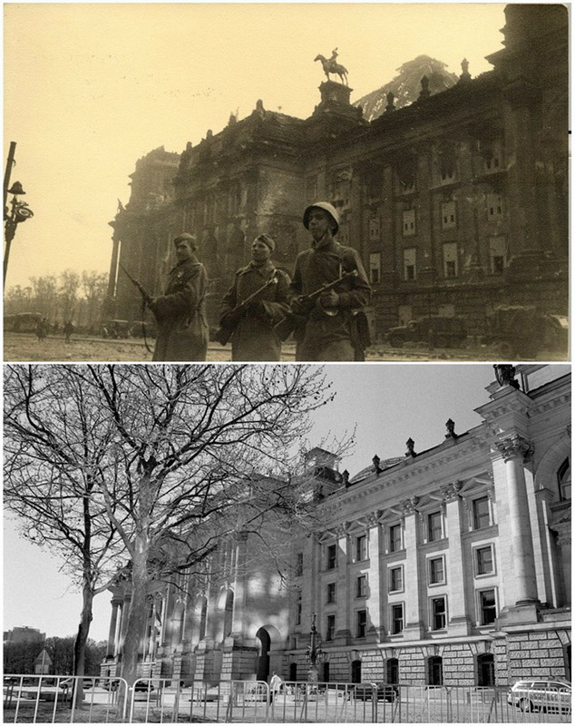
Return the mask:
MULTIPOLYGON (((326 376, 334 381, 336 401, 322 409, 317 438, 309 444, 317 446, 329 432, 342 437, 357 425, 354 455, 340 465, 351 476, 369 466, 375 454, 404 456, 409 437, 416 451, 440 444, 450 417, 456 433, 478 426, 481 418, 473 408, 488 400, 485 387, 494 380, 489 364, 331 364, 326 376)), ((28 625, 48 635, 75 633, 81 597, 69 589, 59 566, 5 523, 5 630, 28 625)), ((110 612, 110 596, 98 595, 91 633, 96 640, 107 638, 110 612)))

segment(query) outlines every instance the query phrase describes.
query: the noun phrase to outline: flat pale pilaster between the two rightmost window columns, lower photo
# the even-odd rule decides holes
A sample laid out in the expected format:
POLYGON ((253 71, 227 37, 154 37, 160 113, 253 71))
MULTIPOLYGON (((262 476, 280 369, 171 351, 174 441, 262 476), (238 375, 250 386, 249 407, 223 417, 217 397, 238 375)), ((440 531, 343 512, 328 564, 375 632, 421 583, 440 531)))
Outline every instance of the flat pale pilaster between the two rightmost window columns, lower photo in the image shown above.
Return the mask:
POLYGON ((449 538, 449 634, 468 635, 470 623, 465 611, 463 583, 462 520, 459 490, 461 482, 442 488, 447 536, 449 538))

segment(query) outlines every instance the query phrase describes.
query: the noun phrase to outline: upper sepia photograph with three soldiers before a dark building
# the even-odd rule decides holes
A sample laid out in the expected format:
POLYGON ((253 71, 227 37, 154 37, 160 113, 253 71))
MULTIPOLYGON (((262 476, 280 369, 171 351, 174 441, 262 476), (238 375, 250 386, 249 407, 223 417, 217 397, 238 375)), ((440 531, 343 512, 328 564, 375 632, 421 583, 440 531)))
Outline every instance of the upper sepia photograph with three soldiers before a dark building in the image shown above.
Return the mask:
POLYGON ((567 360, 565 5, 5 4, 5 360, 567 360))

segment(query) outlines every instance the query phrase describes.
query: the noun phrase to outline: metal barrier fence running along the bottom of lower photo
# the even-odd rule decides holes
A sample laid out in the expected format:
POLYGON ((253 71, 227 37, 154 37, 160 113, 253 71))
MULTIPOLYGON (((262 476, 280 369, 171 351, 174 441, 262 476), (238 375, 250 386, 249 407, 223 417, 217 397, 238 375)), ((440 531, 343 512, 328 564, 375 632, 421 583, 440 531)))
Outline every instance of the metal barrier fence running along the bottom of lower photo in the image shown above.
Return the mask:
POLYGON ((5 676, 14 723, 570 723, 570 692, 374 683, 5 676), (78 693, 83 682, 82 698, 78 693))

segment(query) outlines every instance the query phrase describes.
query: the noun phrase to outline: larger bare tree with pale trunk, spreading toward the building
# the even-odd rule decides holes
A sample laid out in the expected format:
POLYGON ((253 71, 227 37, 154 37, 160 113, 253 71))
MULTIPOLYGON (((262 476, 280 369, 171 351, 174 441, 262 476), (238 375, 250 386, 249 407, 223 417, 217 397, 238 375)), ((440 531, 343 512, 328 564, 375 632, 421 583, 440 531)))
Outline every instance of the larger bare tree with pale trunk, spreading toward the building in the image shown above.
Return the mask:
MULTIPOLYGON (((24 378, 20 368, 16 374, 24 378)), ((25 377, 50 400, 54 375, 69 381, 68 399, 81 395, 97 409, 90 416, 102 456, 86 466, 78 450, 75 465, 90 472, 89 501, 105 508, 130 558, 122 676, 132 684, 152 581, 206 562, 222 535, 264 538, 266 517, 305 509, 287 475, 301 460, 309 415, 333 394, 311 366, 88 365, 25 377)), ((55 436, 65 421, 56 426, 41 398, 34 415, 54 422, 55 436)))

